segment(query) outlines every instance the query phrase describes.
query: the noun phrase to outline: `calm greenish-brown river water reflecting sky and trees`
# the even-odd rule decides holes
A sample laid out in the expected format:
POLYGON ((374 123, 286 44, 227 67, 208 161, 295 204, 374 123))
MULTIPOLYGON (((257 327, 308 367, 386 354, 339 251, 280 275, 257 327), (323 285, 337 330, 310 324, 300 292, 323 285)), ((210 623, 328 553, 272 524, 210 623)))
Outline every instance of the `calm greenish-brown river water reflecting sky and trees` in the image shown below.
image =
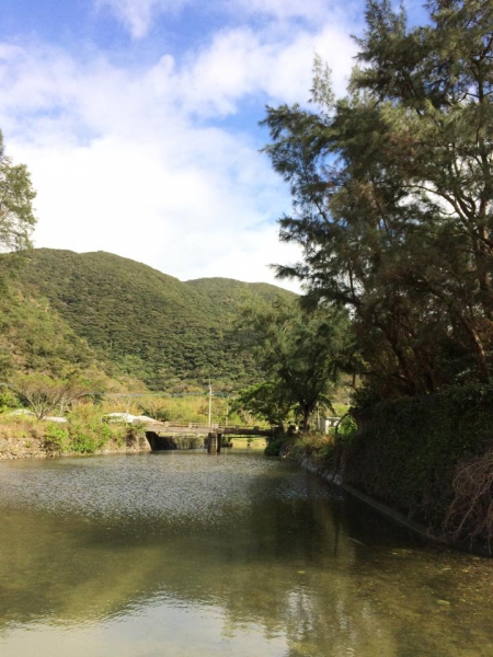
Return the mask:
POLYGON ((0 463, 2 657, 493 656, 493 561, 261 454, 0 463))

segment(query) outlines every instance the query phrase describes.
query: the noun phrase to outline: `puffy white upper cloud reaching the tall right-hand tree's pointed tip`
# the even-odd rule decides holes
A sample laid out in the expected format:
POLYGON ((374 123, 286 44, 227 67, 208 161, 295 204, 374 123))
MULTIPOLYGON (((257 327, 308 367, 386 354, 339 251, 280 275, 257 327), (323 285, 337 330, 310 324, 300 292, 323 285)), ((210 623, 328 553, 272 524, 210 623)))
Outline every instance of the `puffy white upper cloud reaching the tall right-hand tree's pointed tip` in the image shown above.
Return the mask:
POLYGON ((268 41, 249 27, 225 30, 181 67, 164 58, 148 82, 161 96, 174 94, 187 112, 228 116, 249 95, 271 103, 307 101, 316 53, 331 67, 334 90, 343 94, 356 46, 335 25, 314 34, 299 31, 289 41, 268 41))

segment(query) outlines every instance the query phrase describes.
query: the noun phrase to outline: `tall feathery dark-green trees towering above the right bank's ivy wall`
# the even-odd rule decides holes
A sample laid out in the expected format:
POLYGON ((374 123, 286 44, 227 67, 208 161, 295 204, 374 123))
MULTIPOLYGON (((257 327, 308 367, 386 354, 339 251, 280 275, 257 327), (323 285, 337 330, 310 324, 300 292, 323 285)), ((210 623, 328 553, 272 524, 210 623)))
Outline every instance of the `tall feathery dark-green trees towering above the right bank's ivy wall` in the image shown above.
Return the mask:
POLYGON ((289 182, 280 268, 349 309, 366 401, 486 382, 493 366, 493 5, 436 0, 409 28, 367 4, 349 95, 316 61, 313 110, 270 108, 266 148, 289 182))

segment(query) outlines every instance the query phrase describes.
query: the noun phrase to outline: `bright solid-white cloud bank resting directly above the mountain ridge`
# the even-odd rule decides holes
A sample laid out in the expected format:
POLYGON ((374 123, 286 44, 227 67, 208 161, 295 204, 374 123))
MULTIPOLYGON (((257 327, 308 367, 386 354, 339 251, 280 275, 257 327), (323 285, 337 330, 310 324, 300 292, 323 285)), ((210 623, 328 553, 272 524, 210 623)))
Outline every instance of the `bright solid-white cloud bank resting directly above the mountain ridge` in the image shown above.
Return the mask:
MULTIPOLYGON (((30 162, 39 189, 38 246, 108 251, 181 279, 228 276, 274 283, 267 265, 298 257, 296 247, 279 244, 276 226, 256 207, 254 187, 231 184, 218 161, 209 171, 194 169, 194 151, 187 165, 179 168, 153 146, 121 138, 51 151, 16 146, 15 152, 30 162)), ((264 181, 272 175, 248 149, 243 157, 246 177, 257 183, 255 169, 264 181)), ((271 194, 280 208, 284 199, 275 181, 271 194)))

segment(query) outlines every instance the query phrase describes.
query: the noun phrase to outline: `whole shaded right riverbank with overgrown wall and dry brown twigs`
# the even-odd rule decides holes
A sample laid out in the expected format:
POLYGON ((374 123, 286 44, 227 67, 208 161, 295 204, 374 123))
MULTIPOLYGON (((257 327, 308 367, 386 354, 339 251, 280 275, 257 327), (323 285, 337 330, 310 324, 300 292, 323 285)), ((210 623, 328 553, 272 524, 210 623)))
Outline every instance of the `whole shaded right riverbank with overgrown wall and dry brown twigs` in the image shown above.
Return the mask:
POLYGON ((284 452, 419 533, 490 555, 493 389, 400 399, 353 415, 354 430, 287 439, 284 452))

